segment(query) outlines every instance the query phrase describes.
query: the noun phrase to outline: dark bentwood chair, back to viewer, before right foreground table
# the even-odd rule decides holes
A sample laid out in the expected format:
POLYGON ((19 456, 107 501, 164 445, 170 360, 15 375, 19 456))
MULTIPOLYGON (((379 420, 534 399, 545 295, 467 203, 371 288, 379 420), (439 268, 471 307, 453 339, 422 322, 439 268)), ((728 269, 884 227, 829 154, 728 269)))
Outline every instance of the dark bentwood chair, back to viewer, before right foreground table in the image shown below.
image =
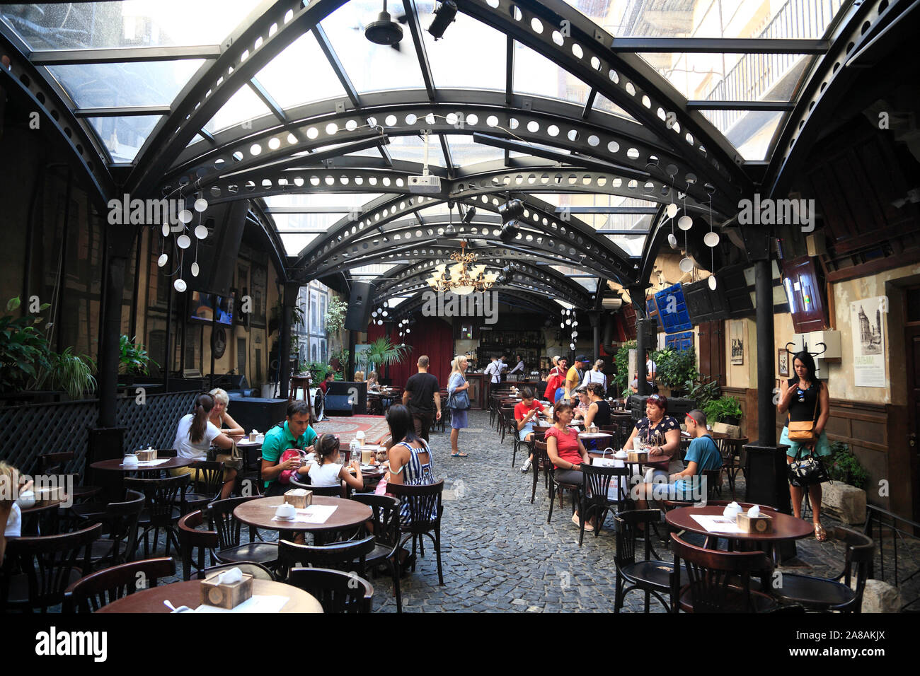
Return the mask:
POLYGON ((770 579, 773 564, 765 552, 723 552, 684 542, 671 533, 674 571, 683 563, 686 582, 671 573, 671 612, 767 613, 776 601, 752 588, 752 575, 770 579))

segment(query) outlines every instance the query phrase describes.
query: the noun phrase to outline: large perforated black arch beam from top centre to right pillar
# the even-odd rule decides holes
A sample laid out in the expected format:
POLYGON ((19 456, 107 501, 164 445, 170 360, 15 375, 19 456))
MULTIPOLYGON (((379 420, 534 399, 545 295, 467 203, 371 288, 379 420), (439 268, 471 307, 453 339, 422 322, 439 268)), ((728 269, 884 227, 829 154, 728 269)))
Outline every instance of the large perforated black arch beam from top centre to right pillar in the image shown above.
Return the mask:
MULTIPOLYGON (((661 138, 677 139, 700 182, 713 183, 732 201, 753 192, 742 157, 725 136, 702 114, 687 109, 686 99, 640 56, 613 52, 614 37, 563 0, 457 0, 457 6, 558 63, 661 138), (669 123, 669 112, 679 132, 669 123)), ((681 177, 679 182, 687 181, 681 177)))

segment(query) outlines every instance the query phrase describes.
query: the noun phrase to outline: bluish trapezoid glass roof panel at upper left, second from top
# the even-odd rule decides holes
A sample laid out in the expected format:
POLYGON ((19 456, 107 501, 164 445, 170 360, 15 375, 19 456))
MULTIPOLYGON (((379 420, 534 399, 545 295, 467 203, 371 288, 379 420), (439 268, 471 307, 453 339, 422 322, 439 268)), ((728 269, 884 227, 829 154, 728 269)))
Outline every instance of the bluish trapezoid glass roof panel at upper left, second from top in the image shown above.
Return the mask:
POLYGON ((203 59, 141 63, 52 65, 77 108, 167 106, 195 74, 203 59))

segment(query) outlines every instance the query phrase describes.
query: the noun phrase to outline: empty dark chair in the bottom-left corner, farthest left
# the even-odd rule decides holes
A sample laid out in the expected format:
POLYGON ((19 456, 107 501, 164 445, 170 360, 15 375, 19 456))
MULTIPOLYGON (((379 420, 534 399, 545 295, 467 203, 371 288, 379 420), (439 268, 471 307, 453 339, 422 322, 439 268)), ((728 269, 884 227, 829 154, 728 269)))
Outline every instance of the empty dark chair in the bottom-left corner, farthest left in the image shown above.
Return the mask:
POLYGON ((0 608, 44 613, 63 602, 64 590, 90 569, 90 545, 101 533, 102 524, 94 523, 73 533, 10 539, 0 576, 0 608), (21 572, 13 573, 14 564, 21 572))

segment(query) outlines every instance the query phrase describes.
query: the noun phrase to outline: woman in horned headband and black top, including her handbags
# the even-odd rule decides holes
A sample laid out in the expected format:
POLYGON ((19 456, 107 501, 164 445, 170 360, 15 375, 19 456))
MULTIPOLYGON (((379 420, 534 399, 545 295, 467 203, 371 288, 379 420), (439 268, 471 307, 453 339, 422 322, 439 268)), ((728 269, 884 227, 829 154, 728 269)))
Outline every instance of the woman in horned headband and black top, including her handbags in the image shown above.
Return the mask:
POLYGON ((792 359, 792 365, 797 377, 783 383, 779 396, 779 412, 788 412, 788 422, 779 442, 788 444, 787 462, 793 470, 800 465, 814 465, 813 471, 808 466, 802 466, 797 473, 799 480, 789 483, 789 495, 792 498, 792 512, 797 519, 801 519, 803 485, 808 486, 814 536, 819 542, 824 542, 827 533, 821 525, 821 482, 827 480, 827 473, 823 470, 820 458, 831 454, 831 444, 824 432, 830 415, 830 396, 827 387, 814 375, 814 359, 811 354, 798 352, 792 359), (812 460, 812 455, 817 457, 812 460))

